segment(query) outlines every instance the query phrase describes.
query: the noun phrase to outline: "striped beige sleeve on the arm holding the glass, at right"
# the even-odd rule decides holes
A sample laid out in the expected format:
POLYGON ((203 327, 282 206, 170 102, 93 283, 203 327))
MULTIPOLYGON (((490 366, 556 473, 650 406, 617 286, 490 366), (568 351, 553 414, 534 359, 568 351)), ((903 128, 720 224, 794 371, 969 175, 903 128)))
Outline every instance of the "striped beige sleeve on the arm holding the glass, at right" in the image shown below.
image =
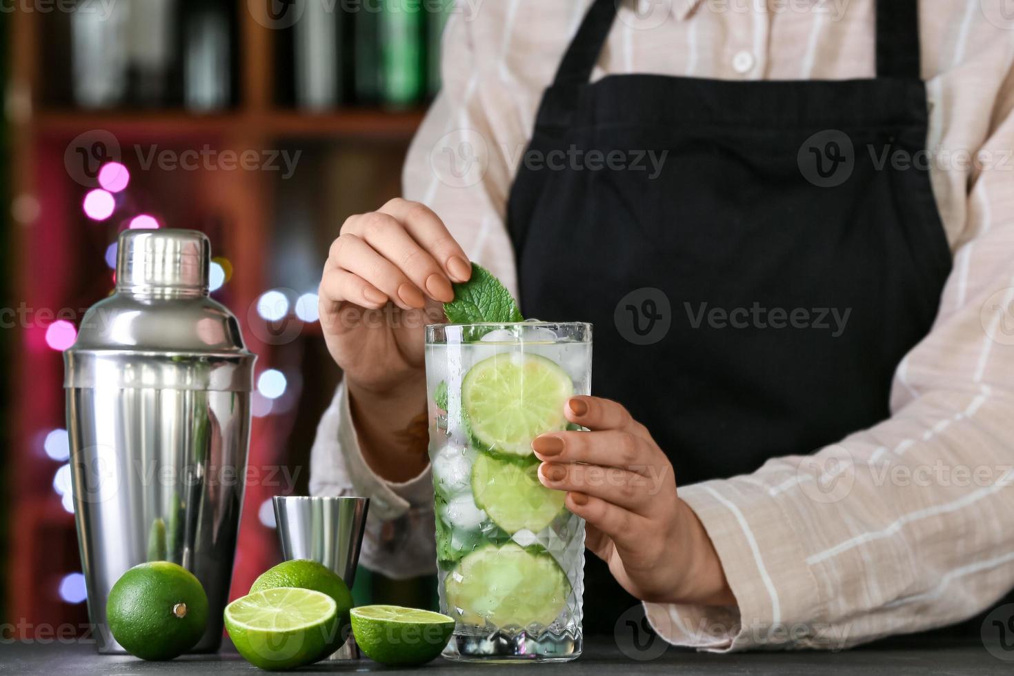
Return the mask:
POLYGON ((977 155, 947 167, 967 186, 964 227, 934 326, 895 373, 891 418, 679 490, 738 607, 646 604, 669 642, 837 650, 966 619, 1014 587, 1012 81, 977 155))

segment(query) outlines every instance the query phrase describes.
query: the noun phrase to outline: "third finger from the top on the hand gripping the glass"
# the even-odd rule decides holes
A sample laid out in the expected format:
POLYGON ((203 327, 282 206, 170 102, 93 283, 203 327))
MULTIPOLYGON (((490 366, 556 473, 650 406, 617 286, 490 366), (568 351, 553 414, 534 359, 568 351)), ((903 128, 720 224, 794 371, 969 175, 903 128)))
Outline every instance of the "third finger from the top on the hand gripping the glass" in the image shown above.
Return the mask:
POLYGON ((578 492, 631 512, 647 514, 657 491, 645 476, 619 467, 544 462, 538 480, 548 489, 578 492))

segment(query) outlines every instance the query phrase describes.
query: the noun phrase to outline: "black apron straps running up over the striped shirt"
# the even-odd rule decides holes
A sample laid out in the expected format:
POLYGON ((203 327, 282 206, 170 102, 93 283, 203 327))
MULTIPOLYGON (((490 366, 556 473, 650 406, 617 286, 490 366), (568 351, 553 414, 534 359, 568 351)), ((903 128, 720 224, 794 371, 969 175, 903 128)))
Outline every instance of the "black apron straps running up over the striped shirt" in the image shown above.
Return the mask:
MULTIPOLYGON (((554 84, 580 85, 591 79, 620 1, 592 1, 560 62, 554 84)), ((878 0, 876 5, 877 77, 918 78, 919 0, 878 0)))

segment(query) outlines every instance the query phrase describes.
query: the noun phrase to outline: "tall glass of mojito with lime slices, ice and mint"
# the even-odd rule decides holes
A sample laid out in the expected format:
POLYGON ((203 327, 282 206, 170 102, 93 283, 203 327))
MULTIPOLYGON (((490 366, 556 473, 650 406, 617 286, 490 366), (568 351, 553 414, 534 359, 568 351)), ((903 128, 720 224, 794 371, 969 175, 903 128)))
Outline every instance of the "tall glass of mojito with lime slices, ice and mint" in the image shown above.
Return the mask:
POLYGON ((584 521, 538 481, 531 440, 591 383, 591 325, 426 329, 430 461, 444 655, 567 660, 581 653, 584 521))

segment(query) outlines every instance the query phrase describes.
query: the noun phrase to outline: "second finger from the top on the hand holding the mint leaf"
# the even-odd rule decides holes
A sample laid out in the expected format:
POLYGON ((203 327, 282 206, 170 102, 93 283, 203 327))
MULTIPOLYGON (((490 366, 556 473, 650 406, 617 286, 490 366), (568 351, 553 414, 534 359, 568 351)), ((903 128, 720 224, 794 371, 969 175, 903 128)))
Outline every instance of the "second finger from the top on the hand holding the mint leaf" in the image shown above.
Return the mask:
POLYGON ((381 212, 353 216, 342 231, 360 237, 433 300, 441 303, 454 300, 454 291, 443 269, 393 216, 381 212))

